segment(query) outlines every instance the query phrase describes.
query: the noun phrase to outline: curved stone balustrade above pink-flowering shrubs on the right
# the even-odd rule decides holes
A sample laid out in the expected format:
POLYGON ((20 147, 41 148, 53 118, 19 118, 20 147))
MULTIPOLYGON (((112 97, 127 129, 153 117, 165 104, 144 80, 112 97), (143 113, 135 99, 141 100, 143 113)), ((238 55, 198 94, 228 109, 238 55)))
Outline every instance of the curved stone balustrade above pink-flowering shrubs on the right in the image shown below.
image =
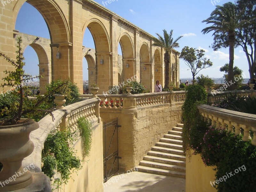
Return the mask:
POLYGON ((198 110, 204 117, 204 120, 208 121, 212 126, 216 126, 218 130, 228 129, 228 132, 233 132, 233 128, 235 128, 235 135, 238 135, 241 134, 240 128, 243 128, 243 141, 252 139, 249 132, 249 130, 252 130, 252 145, 256 146, 256 115, 209 105, 200 105, 198 106, 198 110))

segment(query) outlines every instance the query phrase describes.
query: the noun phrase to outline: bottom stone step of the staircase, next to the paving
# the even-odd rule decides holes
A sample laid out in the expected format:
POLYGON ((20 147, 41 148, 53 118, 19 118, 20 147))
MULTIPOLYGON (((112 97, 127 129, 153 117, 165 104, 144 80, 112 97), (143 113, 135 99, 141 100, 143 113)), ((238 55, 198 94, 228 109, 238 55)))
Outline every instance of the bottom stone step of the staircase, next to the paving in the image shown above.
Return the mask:
POLYGON ((152 168, 152 167, 144 167, 141 165, 137 166, 137 168, 141 172, 147 172, 147 173, 165 175, 165 176, 181 177, 181 178, 186 177, 186 173, 184 173, 184 172, 169 171, 169 170, 157 169, 157 168, 152 168))

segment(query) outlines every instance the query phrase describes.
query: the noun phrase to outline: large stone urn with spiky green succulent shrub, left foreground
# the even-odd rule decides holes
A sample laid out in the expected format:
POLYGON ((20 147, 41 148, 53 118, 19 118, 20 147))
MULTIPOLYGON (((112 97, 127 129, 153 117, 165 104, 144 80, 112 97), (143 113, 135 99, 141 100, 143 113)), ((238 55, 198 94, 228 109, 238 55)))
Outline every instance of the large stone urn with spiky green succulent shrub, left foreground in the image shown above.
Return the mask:
MULTIPOLYGON (((15 68, 14 71, 5 71, 6 77, 2 78, 4 83, 1 86, 10 87, 4 92, 2 99, 12 98, 8 106, 0 106, 0 182, 4 183, 4 191, 18 190, 27 187, 32 182, 32 173, 24 171, 22 167, 23 158, 33 152, 34 144, 29 139, 30 132, 39 128, 39 124, 33 119, 23 118, 24 116, 40 110, 40 104, 48 100, 50 96, 37 96, 37 99, 30 100, 29 87, 23 83, 31 80, 32 76, 25 74, 23 66, 23 52, 21 49, 22 40, 18 38, 18 51, 16 61, 0 53, 15 68), (16 173, 23 173, 10 180, 16 173), (7 182, 6 182, 7 181, 7 182)), ((39 76, 37 76, 39 77, 39 76)), ((63 85, 63 84, 62 84, 63 85)), ((57 91, 57 87, 54 91, 57 91)))

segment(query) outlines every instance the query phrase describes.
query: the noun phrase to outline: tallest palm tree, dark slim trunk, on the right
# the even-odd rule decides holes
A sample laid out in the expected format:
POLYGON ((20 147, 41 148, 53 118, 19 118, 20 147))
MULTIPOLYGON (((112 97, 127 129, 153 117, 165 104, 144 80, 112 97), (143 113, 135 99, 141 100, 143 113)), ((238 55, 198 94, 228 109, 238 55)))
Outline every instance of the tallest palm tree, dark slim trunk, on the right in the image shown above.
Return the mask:
MULTIPOLYGON (((210 27, 206 27, 202 30, 203 34, 214 31, 213 36, 215 43, 219 41, 218 47, 225 47, 225 43, 228 43, 229 47, 229 64, 228 64, 228 82, 234 83, 234 45, 235 45, 235 31, 238 28, 239 22, 237 19, 236 5, 229 2, 222 6, 217 5, 215 10, 211 13, 210 17, 202 22, 212 24, 210 27), (223 43, 221 45, 221 43, 223 43)), ((217 43, 217 44, 218 44, 217 43)), ((233 84, 234 85, 234 84, 233 84)), ((228 90, 233 90, 234 86, 229 86, 228 90)))

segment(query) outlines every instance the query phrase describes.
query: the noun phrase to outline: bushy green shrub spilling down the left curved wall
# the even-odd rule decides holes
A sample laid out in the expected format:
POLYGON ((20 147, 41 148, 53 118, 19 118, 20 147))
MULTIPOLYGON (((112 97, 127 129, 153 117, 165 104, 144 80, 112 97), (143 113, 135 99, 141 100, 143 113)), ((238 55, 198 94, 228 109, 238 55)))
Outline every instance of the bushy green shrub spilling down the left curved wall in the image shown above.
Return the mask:
POLYGON ((42 151, 42 159, 44 167, 42 171, 47 173, 46 175, 52 178, 54 172, 55 163, 57 162, 57 171, 61 173, 63 182, 67 182, 71 174, 71 170, 81 169, 81 163, 76 153, 70 145, 73 145, 73 135, 75 132, 71 132, 70 129, 66 131, 58 131, 56 133, 50 133, 44 142, 44 150, 42 151), (49 157, 50 153, 54 154, 55 160, 49 157), (46 161, 44 161, 46 160, 46 161))

